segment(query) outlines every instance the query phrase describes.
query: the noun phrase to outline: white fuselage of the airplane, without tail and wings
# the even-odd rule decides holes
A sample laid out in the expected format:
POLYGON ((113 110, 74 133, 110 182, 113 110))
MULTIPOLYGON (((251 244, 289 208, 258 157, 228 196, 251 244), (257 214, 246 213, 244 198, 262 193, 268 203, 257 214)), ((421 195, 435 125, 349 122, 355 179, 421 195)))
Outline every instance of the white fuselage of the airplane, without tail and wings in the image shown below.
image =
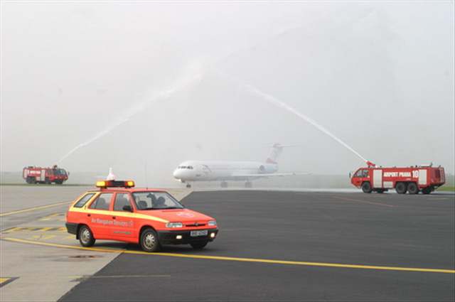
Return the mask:
POLYGON ((269 174, 278 171, 277 163, 260 161, 183 161, 173 177, 182 183, 210 180, 252 180, 258 174, 269 174))

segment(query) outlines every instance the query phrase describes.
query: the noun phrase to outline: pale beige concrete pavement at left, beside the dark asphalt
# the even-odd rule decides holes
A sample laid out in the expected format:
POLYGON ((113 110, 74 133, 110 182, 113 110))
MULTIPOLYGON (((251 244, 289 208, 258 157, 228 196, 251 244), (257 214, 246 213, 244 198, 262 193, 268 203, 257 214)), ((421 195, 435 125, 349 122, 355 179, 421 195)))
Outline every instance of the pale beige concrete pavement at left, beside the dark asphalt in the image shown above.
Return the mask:
MULTIPOLYGON (((83 191, 84 188, 80 188, 80 193, 83 191)), ((191 190, 171 189, 168 192, 181 200, 191 190)), ((28 194, 33 195, 33 191, 28 194)), ((77 195, 73 198, 77 198, 77 195)), ((26 203, 31 198, 33 196, 24 194, 18 194, 17 198, 9 195, 8 202, 16 204, 14 210, 26 209, 31 207, 26 203)), ((55 203, 55 200, 49 203, 55 203)), ((4 221, 1 223, 0 237, 80 246, 75 235, 65 230, 67 209, 68 205, 58 205, 1 217, 4 221)), ((96 245, 107 249, 124 249, 127 244, 99 241, 96 245)), ((95 274, 119 255, 118 252, 61 249, 5 240, 0 241, 0 253, 0 301, 57 301, 80 281, 95 274)))

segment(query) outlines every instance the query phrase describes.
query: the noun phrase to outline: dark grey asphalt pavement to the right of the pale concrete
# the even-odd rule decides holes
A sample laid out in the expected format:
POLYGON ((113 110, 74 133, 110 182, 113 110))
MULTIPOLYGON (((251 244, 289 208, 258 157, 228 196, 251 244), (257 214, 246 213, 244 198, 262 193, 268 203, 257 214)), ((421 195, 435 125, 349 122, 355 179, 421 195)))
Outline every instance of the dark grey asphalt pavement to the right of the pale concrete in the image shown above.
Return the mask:
POLYGON ((454 198, 194 192, 183 203, 218 220, 215 242, 128 245, 60 301, 454 301, 454 198))

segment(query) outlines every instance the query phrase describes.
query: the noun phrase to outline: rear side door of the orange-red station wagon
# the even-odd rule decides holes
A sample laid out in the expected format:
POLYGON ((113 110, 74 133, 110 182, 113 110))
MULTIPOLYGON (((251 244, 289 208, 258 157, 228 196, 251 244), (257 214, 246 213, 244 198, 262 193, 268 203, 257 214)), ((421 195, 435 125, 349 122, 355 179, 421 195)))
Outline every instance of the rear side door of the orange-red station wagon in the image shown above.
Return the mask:
POLYGON ((113 195, 113 193, 101 193, 89 206, 87 216, 95 239, 109 239, 109 228, 114 223, 110 210, 113 195))

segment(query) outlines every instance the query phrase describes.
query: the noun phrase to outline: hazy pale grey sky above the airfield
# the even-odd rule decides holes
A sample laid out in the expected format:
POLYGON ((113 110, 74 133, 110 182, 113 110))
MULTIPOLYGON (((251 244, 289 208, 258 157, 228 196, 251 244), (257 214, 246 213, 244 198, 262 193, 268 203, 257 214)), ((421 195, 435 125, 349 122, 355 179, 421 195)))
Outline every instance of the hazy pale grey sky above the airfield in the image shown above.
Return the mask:
MULTIPOLYGON (((159 183, 186 159, 454 173, 454 2, 1 2, 1 171, 159 183)), ((164 183, 166 182, 164 181, 164 183)))

